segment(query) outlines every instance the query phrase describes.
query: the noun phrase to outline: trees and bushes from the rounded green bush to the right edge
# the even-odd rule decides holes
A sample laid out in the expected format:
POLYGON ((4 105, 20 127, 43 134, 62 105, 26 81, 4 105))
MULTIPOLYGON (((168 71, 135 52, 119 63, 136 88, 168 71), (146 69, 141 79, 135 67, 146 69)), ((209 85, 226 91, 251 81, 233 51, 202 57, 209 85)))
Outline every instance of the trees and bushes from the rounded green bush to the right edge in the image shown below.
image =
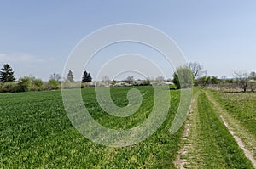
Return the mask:
POLYGON ((203 66, 197 62, 190 62, 183 65, 174 72, 173 80, 177 88, 188 88, 193 86, 211 87, 218 90, 228 90, 230 92, 251 92, 256 90, 256 72, 250 73, 235 70, 233 78, 226 76, 218 79, 217 76, 202 76, 206 71, 202 71, 203 66))

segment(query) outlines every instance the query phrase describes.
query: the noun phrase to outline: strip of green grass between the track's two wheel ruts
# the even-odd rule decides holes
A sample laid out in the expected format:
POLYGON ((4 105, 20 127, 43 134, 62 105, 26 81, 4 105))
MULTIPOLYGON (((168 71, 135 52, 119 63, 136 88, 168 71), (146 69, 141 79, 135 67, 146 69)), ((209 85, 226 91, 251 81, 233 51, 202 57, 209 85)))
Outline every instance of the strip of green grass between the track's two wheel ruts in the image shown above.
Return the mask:
POLYGON ((253 168, 236 144, 228 129, 204 92, 198 95, 195 104, 194 122, 189 137, 189 168, 253 168), (194 149, 194 151, 191 151, 194 149))

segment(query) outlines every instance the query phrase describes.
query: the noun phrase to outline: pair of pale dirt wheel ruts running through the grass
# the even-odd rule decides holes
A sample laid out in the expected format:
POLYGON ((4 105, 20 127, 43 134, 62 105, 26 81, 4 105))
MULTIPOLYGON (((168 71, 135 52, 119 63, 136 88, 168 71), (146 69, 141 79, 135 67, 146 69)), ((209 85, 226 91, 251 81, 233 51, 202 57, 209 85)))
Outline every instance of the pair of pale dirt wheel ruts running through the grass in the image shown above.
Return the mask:
MULTIPOLYGON (((198 110, 197 110, 197 98, 199 93, 206 93, 207 99, 211 102, 212 107, 216 114, 219 116, 221 121, 224 123, 224 126, 227 127, 230 134, 236 140, 236 143, 244 152, 244 155, 249 161, 252 162, 253 167, 256 168, 256 138, 244 127, 241 127, 238 121, 234 119, 226 110, 224 110, 215 99, 213 99, 211 93, 207 91, 199 91, 195 93, 193 100, 191 102, 189 116, 185 122, 185 127, 183 131, 182 138, 182 149, 179 150, 177 154, 177 160, 174 161, 177 168, 199 168, 197 166, 198 162, 201 162, 201 152, 200 149, 197 149, 198 141, 198 128, 201 127, 201 124, 198 119, 198 110)), ((219 166, 221 167, 221 166, 219 166)))

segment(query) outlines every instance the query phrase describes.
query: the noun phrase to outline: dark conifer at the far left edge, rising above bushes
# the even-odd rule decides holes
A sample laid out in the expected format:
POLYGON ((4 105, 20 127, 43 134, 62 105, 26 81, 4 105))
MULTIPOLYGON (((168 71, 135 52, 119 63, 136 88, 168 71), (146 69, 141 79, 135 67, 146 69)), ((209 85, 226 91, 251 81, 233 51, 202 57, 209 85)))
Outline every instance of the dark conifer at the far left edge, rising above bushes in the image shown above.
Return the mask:
POLYGON ((14 82, 15 72, 9 64, 4 64, 0 71, 0 82, 14 82))

